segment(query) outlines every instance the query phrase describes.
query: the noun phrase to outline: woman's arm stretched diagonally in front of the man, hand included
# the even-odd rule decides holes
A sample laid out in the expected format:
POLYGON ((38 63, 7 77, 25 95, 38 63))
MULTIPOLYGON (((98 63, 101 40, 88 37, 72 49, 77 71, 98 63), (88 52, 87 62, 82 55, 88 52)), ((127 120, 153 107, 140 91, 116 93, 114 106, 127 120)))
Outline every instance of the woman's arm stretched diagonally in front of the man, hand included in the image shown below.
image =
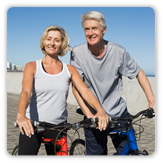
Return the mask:
MULTIPOLYGON (((100 130, 105 130, 107 127, 107 123, 109 122, 109 117, 108 115, 105 113, 104 109, 101 107, 100 103, 98 102, 98 100, 95 98, 95 96, 93 95, 93 93, 87 88, 87 86, 84 84, 83 80, 81 79, 78 71, 73 67, 73 66, 68 66, 69 72, 71 74, 71 80, 73 83, 73 86, 78 90, 78 92, 80 93, 80 95, 82 96, 82 98, 92 107, 97 111, 97 114, 94 117, 98 117, 99 120, 99 129, 100 130)), ((77 101, 79 101, 80 104, 84 104, 84 102, 81 102, 81 97, 79 94, 76 94, 75 97, 77 97, 77 101)), ((83 105, 82 108, 85 108, 85 106, 83 105)), ((91 113, 90 111, 88 113, 86 113, 88 111, 88 108, 86 110, 86 108, 84 109, 84 113, 86 115, 90 115, 91 113)))

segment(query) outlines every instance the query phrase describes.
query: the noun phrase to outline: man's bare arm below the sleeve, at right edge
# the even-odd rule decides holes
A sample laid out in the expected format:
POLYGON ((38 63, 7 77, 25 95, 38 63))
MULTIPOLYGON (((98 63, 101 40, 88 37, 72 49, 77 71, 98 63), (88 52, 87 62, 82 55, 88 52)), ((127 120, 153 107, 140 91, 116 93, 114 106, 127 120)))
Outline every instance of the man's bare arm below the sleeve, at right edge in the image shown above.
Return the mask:
POLYGON ((152 92, 150 83, 149 83, 149 81, 148 81, 148 79, 147 79, 147 77, 146 77, 146 75, 142 69, 140 69, 140 72, 137 75, 137 80, 138 80, 140 86, 142 87, 142 89, 144 90, 145 95, 147 97, 147 100, 148 100, 147 108, 150 107, 155 112, 155 96, 152 92))

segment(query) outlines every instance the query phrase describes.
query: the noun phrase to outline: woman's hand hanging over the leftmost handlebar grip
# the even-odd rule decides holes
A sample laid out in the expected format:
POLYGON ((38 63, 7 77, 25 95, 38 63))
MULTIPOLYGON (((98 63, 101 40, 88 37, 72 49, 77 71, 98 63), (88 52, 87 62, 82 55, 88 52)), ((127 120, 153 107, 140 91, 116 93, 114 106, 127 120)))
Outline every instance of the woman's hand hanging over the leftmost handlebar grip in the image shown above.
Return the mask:
POLYGON ((32 126, 30 119, 18 113, 16 122, 19 125, 20 132, 23 135, 24 135, 24 131, 25 131, 25 134, 29 137, 31 137, 31 134, 32 135, 34 134, 33 126, 32 126))

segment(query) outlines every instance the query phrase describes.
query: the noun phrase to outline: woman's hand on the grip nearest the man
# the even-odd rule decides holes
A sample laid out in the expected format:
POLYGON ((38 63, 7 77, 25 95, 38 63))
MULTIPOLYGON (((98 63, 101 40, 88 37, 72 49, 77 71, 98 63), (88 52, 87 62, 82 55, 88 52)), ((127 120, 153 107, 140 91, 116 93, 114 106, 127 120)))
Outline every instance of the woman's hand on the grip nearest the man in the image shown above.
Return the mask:
POLYGON ((109 116, 105 111, 100 111, 95 114, 93 118, 98 118, 98 128, 100 131, 105 130, 109 123, 109 116))

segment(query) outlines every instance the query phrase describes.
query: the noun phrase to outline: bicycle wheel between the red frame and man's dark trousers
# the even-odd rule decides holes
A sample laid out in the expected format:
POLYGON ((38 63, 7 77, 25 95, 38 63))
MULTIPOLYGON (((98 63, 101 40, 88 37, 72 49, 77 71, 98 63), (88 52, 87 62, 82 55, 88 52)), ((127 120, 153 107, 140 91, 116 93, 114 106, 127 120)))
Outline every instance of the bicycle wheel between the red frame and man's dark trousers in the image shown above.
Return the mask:
POLYGON ((72 142, 71 148, 70 148, 70 156, 85 156, 86 154, 86 149, 85 149, 85 141, 82 139, 76 139, 75 141, 72 142), (79 150, 79 147, 82 148, 81 153, 77 152, 79 150))

